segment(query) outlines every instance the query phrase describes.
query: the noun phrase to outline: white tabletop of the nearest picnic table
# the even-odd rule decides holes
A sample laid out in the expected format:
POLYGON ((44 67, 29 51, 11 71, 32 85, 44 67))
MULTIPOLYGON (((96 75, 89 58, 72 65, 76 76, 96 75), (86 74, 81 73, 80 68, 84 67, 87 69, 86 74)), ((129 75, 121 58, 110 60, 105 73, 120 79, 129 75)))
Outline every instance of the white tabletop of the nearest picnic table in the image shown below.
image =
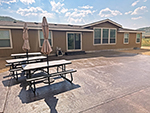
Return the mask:
POLYGON ((71 64, 71 63, 72 63, 71 61, 67 61, 67 60, 49 61, 49 65, 47 65, 47 62, 32 63, 32 64, 27 64, 25 67, 23 67, 23 70, 26 71, 26 70, 34 70, 34 69, 46 68, 46 67, 55 67, 55 66, 71 64))

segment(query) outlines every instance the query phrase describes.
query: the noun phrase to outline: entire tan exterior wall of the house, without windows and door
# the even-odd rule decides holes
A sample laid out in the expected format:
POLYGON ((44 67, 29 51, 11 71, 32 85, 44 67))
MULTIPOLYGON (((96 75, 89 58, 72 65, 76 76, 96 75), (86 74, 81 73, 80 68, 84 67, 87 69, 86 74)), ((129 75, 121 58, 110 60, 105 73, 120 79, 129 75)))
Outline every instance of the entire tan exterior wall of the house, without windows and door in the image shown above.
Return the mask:
MULTIPOLYGON (((112 27, 112 26, 111 26, 112 27)), ((12 29, 12 49, 0 49, 0 56, 10 56, 12 53, 22 53, 23 39, 22 30, 12 29)), ((56 53, 56 47, 60 47, 64 52, 67 51, 66 46, 66 32, 67 31, 52 31, 53 37, 53 52, 56 53)), ((117 33, 116 44, 107 45, 93 45, 93 32, 82 32, 82 50, 102 50, 102 49, 122 49, 122 48, 134 48, 141 47, 140 44, 136 44, 136 33, 129 34, 129 44, 123 44, 124 33, 117 33)), ((142 38, 142 35, 141 35, 142 38)), ((29 30, 29 43, 31 50, 29 52, 40 52, 38 30, 29 30)))

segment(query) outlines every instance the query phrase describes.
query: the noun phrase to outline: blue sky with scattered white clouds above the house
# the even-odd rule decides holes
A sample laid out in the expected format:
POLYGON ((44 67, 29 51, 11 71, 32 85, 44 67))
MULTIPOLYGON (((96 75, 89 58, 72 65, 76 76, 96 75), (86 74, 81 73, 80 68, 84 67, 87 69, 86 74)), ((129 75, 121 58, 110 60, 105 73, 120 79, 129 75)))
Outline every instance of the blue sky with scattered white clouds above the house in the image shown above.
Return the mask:
POLYGON ((150 0, 0 0, 0 16, 76 25, 111 19, 137 29, 150 26, 150 0))

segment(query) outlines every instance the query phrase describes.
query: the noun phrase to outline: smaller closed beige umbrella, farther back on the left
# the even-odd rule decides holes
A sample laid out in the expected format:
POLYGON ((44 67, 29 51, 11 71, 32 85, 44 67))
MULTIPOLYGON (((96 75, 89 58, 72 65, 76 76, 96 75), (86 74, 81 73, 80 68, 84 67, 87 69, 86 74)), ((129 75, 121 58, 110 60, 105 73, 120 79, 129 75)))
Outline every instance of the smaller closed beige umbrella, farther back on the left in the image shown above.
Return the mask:
POLYGON ((29 45, 29 36, 28 36, 28 28, 27 28, 27 23, 24 23, 24 27, 23 27, 23 46, 22 49, 24 51, 26 51, 27 54, 27 59, 28 59, 28 51, 30 50, 30 45, 29 45))

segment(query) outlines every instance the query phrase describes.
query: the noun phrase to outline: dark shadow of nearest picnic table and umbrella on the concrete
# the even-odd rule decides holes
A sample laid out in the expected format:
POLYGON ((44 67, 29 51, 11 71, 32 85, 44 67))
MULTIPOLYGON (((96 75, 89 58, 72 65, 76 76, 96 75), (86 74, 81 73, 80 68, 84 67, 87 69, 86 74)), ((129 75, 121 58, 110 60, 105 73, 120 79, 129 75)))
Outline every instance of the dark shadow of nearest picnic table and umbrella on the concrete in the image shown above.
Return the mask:
POLYGON ((74 83, 71 84, 64 80, 58 83, 53 83, 51 85, 46 84, 42 87, 37 87, 36 94, 34 94, 32 90, 29 90, 29 87, 27 87, 27 84, 25 83, 21 83, 21 87, 22 89, 18 97, 21 99, 22 103, 28 104, 44 99, 50 108, 50 113, 57 113, 55 107, 59 99, 56 98, 55 95, 79 88, 81 86, 74 83))

